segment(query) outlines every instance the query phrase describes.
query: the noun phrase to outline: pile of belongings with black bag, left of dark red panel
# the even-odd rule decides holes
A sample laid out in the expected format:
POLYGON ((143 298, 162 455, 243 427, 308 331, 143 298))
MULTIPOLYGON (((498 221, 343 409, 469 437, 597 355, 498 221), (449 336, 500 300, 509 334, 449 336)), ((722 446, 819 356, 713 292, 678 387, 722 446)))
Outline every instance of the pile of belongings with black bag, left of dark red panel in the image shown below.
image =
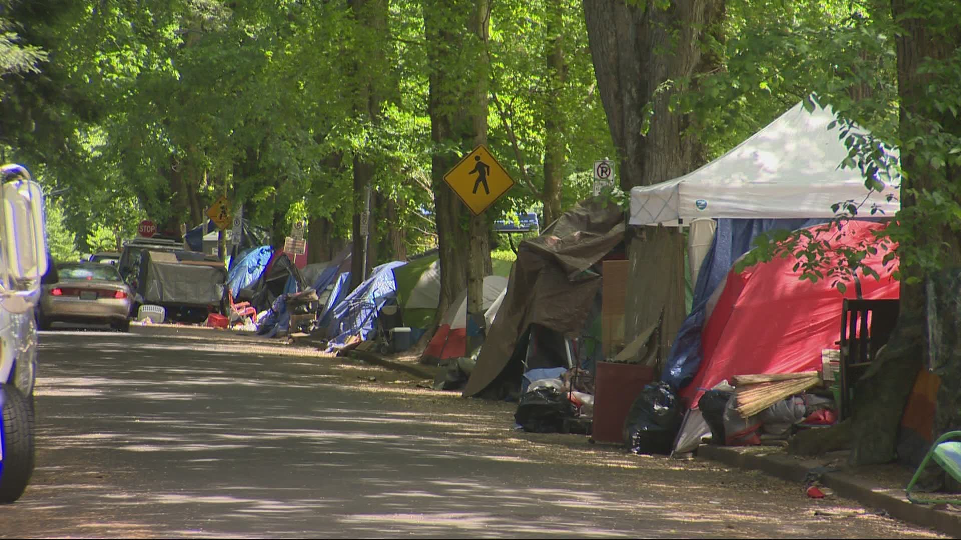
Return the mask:
POLYGON ((514 420, 525 431, 568 432, 572 419, 594 416, 594 378, 582 369, 532 369, 521 391, 514 420))

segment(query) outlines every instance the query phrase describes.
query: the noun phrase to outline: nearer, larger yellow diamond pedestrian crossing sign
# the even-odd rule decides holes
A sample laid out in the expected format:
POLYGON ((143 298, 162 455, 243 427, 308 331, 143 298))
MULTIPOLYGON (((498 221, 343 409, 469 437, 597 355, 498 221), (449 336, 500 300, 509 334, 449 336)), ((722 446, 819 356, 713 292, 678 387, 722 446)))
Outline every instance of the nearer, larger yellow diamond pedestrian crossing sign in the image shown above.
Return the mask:
POLYGON ((514 179, 483 144, 454 165, 444 175, 444 182, 474 215, 483 213, 514 186, 514 179))

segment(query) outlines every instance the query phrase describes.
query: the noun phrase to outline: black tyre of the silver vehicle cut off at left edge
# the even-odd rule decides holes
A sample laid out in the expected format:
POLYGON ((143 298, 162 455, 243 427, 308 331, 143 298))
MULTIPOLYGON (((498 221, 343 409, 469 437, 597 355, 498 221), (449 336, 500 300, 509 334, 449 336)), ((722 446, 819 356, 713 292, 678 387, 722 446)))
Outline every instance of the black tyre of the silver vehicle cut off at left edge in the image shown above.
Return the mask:
POLYGON ((23 495, 34 475, 34 407, 12 384, 0 385, 3 400, 3 475, 0 503, 23 495))

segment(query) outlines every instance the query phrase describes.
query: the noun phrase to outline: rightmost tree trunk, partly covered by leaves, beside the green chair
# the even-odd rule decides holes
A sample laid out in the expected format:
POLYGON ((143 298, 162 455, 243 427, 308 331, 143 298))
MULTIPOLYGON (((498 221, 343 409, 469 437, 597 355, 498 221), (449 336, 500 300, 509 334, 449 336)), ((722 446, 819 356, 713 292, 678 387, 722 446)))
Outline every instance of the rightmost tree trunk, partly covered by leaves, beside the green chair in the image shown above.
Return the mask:
MULTIPOLYGON (((915 136, 924 140, 931 136, 927 130, 938 125, 947 134, 961 135, 961 122, 949 110, 934 107, 940 97, 931 95, 928 87, 934 76, 919 73, 919 67, 928 61, 948 61, 961 46, 961 27, 956 17, 941 11, 928 11, 922 0, 892 0, 891 11, 899 20, 904 32, 898 35, 898 92, 900 97, 899 137, 911 140, 915 136), (908 12, 913 16, 903 17, 908 12), (903 17, 903 18, 902 18, 903 17)), ((956 10, 956 8, 955 8, 956 10)), ((950 83, 950 82, 949 82, 950 83)), ((917 204, 914 193, 936 192, 952 182, 957 182, 946 166, 933 165, 931 160, 919 159, 923 147, 912 152, 902 152, 901 167, 908 173, 901 184, 901 209, 910 214, 917 204), (912 191, 915 190, 915 191, 912 191)), ((957 195, 954 195, 957 197, 957 195)), ((943 262, 949 267, 961 265, 961 236, 951 227, 933 220, 920 219, 913 214, 917 227, 912 232, 915 243, 943 246, 939 251, 943 262)), ((909 224, 908 226, 911 226, 909 224)), ((899 247, 899 251, 902 248, 899 247)), ((923 270, 901 259, 901 294, 898 325, 885 351, 878 355, 869 372, 855 386, 852 416, 853 449, 852 464, 867 465, 884 463, 894 458, 898 443, 901 414, 907 404, 912 385, 930 347, 937 343, 927 341, 928 320, 931 313, 927 307, 935 298, 926 298, 921 285, 910 285, 904 280, 924 279, 923 270)), ((930 276, 928 279, 942 279, 930 276)), ((952 303, 934 302, 939 318, 954 320, 952 303)), ((961 426, 961 411, 957 396, 961 393, 961 362, 950 362, 941 375, 935 411, 934 435, 943 430, 961 426)))

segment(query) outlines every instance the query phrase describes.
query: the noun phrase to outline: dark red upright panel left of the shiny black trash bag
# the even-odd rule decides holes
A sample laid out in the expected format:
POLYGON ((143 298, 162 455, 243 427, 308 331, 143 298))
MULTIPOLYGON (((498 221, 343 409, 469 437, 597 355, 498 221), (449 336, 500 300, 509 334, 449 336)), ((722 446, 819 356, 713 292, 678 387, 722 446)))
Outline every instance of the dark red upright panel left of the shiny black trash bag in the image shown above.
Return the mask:
POLYGON ((653 368, 640 364, 598 362, 591 436, 604 443, 624 443, 624 420, 634 399, 653 382, 653 368))

